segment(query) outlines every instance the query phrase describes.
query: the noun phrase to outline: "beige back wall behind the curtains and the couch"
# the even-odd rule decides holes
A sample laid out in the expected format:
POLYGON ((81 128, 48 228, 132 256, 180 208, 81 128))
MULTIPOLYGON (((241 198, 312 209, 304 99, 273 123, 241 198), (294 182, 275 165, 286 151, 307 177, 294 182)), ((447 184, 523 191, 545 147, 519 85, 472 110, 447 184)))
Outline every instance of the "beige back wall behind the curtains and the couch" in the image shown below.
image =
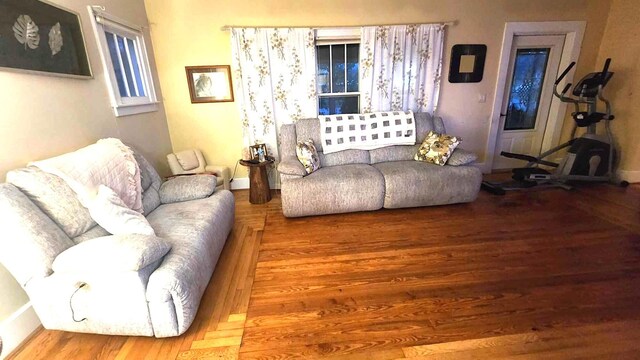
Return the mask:
MULTIPOLYGON (((445 69, 454 44, 487 44, 484 80, 443 82, 439 113, 463 146, 484 154, 498 59, 507 21, 586 20, 580 73, 591 70, 606 23, 609 1, 589 0, 145 0, 174 149, 201 148, 209 162, 232 167, 242 149, 235 103, 189 101, 186 65, 231 64, 229 32, 223 25, 344 26, 457 20, 447 29, 445 69), (478 95, 487 96, 478 103, 478 95)), ((238 176, 244 176, 244 170, 238 176)))

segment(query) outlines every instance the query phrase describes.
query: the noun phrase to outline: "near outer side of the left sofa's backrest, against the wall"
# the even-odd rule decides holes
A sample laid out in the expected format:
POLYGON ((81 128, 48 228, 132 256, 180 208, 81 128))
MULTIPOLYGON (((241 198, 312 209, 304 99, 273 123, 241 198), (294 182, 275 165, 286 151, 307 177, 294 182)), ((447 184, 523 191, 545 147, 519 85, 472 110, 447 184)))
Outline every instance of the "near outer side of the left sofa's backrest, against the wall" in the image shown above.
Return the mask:
POLYGON ((0 262, 26 286, 51 274, 53 260, 75 243, 24 193, 0 184, 0 262))

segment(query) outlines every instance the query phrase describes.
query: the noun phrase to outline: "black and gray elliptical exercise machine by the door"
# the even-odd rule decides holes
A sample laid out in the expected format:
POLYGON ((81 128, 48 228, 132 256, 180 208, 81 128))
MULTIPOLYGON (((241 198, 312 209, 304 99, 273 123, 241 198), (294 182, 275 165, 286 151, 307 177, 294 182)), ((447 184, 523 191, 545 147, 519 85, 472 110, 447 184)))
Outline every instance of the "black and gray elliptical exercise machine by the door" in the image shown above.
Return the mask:
MULTIPOLYGON (((513 181, 507 183, 483 181, 482 188, 484 190, 496 195, 504 195, 507 190, 535 186, 561 187, 570 190, 571 185, 568 183, 574 181, 612 183, 615 181, 613 170, 616 149, 610 127, 610 122, 615 116, 611 114, 611 103, 602 93, 613 76, 613 72, 609 72, 611 59, 605 61, 601 72, 593 72, 583 77, 573 88, 573 97, 571 97, 566 96, 566 93, 573 84, 567 84, 562 92, 558 92, 558 84, 575 64, 575 62, 569 64, 555 81, 553 89, 553 95, 560 101, 571 103, 574 106, 574 112, 571 113, 571 116, 575 124, 571 132, 571 140, 543 152, 538 157, 501 152, 500 155, 504 157, 527 161, 527 165, 512 170, 513 181), (598 111, 598 101, 604 103, 604 112, 598 111), (582 111, 581 105, 586 105, 586 111, 582 111), (601 121, 604 121, 605 135, 597 133, 597 124, 601 121), (579 127, 586 128, 586 132, 576 138, 576 131, 579 127), (566 147, 569 147, 569 150, 560 163, 545 160, 546 157, 566 147), (540 165, 555 168, 555 170, 550 171, 541 168, 540 165)), ((621 186, 628 184, 626 181, 620 183, 621 186)))

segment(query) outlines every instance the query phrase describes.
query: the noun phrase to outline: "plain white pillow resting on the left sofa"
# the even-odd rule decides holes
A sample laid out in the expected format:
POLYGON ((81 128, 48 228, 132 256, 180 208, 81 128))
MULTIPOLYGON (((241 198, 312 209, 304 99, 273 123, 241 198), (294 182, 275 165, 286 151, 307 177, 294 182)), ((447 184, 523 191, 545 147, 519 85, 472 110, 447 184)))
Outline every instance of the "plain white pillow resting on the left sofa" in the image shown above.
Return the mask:
POLYGON ((98 225, 113 235, 154 235, 155 231, 141 213, 129 209, 109 187, 100 185, 91 201, 89 213, 98 225))

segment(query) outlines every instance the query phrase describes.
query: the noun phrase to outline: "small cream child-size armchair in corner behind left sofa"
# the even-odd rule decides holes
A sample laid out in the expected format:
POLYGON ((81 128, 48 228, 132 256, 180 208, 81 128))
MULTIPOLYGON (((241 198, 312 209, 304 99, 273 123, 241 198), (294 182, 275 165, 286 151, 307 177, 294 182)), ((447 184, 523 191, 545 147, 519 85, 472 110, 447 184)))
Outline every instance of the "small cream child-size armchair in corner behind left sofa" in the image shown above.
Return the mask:
POLYGON ((215 175, 217 187, 231 188, 231 172, 226 166, 207 165, 199 149, 183 150, 167 155, 167 162, 174 176, 209 174, 215 175))

